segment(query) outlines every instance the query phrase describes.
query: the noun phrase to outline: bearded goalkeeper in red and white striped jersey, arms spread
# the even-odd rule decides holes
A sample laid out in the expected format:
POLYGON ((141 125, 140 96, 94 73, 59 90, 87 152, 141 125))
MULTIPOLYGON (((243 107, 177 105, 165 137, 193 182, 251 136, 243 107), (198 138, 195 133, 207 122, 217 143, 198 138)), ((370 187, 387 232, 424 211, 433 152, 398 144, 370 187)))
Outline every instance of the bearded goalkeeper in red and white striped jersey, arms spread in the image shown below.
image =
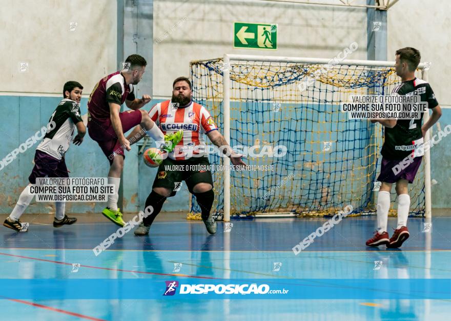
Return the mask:
MULTIPOLYGON (((185 180, 188 190, 196 196, 201 208, 201 216, 207 231, 216 233, 216 222, 210 210, 215 194, 210 162, 204 152, 202 134, 229 155, 233 165, 245 165, 241 155, 235 153, 226 139, 219 133, 208 110, 192 101, 191 82, 186 77, 178 77, 173 83, 172 99, 159 103, 149 112, 151 119, 164 134, 183 130, 183 139, 177 144, 158 168, 152 191, 146 200, 146 208, 153 207, 152 215, 144 218, 135 230, 136 235, 147 235, 150 226, 160 212, 167 197, 174 196, 185 180), (167 170, 167 169, 174 170, 167 170)), ((134 132, 139 129, 135 128, 134 132)))

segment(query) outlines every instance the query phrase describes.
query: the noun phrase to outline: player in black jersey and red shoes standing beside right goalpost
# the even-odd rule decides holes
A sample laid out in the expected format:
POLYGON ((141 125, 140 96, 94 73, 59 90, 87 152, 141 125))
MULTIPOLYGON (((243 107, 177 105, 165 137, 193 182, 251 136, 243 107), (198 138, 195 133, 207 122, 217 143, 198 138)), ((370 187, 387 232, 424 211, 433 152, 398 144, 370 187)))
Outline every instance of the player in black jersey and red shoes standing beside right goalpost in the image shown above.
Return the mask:
POLYGON ((415 71, 420 64, 420 52, 411 47, 396 51, 396 74, 402 83, 392 94, 421 96, 421 102, 427 102, 432 109, 429 120, 422 125, 419 119, 372 119, 372 123, 381 123, 385 130, 382 146, 381 182, 377 197, 377 231, 375 236, 366 241, 367 246, 386 245, 388 248, 399 248, 409 237, 407 217, 411 204, 408 195, 408 184, 413 183, 424 154, 423 137, 440 118, 442 112, 429 84, 415 77, 415 71), (407 162, 406 162, 407 160, 407 162), (396 184, 398 194, 398 226, 391 238, 388 238, 387 220, 390 208, 390 192, 392 184, 396 184))

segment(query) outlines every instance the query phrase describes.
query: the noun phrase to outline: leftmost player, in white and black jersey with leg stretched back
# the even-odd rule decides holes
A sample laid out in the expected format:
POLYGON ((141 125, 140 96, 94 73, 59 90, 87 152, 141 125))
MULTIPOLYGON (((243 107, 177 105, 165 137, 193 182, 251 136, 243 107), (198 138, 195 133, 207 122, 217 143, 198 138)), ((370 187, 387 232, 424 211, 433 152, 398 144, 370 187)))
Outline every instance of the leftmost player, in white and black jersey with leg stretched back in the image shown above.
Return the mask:
MULTIPOLYGON (((80 116, 82 91, 83 86, 77 82, 71 81, 64 84, 64 99, 58 104, 50 117, 47 133, 36 148, 34 167, 28 177, 30 184, 20 193, 17 204, 3 223, 4 226, 15 231, 22 229, 20 216, 34 197, 34 194, 30 193, 30 186, 36 184, 36 178, 69 177, 64 156, 72 142, 75 128, 77 128, 77 135, 73 138, 75 145, 80 145, 83 142, 86 133, 86 127, 80 116)), ((75 217, 65 215, 65 205, 65 202, 55 202, 54 227, 76 222, 75 217)))

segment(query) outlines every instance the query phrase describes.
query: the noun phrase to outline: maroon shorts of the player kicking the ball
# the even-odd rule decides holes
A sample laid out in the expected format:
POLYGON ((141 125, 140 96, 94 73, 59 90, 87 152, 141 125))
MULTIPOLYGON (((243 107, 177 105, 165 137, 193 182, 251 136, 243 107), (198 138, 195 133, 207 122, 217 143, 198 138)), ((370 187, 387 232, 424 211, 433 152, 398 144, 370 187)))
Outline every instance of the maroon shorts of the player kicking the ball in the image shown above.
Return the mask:
MULTIPOLYGON (((119 118, 122 124, 122 132, 126 133, 141 123, 142 114, 139 110, 128 110, 119 113, 119 118)), ((125 158, 124 149, 120 147, 110 118, 102 120, 91 118, 88 122, 88 133, 107 156, 110 165, 113 164, 116 155, 122 155, 125 158)))

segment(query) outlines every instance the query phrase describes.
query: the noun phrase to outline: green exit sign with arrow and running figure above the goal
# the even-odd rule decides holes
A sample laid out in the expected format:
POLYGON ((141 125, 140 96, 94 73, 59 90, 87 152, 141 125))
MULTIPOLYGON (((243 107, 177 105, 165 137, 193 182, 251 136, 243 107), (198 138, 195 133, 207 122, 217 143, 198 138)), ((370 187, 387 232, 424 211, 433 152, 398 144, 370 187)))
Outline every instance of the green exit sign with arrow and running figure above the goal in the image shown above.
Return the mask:
POLYGON ((277 49, 276 24, 234 24, 234 47, 254 49, 277 49))

